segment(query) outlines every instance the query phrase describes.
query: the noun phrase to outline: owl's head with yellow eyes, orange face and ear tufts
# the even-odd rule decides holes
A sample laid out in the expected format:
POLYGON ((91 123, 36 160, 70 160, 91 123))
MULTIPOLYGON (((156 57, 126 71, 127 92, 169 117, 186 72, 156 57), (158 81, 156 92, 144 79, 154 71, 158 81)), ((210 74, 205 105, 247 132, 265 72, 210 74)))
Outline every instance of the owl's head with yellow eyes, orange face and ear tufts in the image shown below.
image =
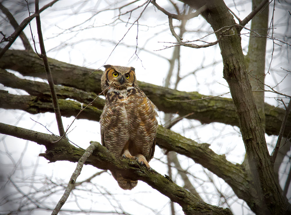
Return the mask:
MULTIPOLYGON (((102 90, 106 89, 109 84, 110 88, 127 89, 128 87, 138 87, 133 67, 121 67, 104 65, 105 71, 101 77, 102 90)), ((104 92, 106 95, 106 92, 104 92)))

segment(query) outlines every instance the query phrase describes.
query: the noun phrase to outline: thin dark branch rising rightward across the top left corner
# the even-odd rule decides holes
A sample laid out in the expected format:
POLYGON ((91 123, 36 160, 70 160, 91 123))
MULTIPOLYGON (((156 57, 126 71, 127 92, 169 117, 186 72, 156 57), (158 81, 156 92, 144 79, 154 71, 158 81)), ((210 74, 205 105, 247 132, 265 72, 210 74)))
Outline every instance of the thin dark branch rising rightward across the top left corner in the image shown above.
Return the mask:
MULTIPOLYGON (((45 6, 43 6, 39 12, 44 11, 45 9, 47 9, 48 7, 51 7, 54 3, 56 3, 58 0, 54 0, 48 4, 46 4, 45 6)), ((10 36, 10 41, 6 44, 6 46, 4 46, 3 49, 1 49, 0 51, 0 58, 4 55, 4 53, 9 49, 9 47, 14 43, 14 41, 16 40, 16 38, 19 36, 19 34, 23 31, 23 29, 26 27, 26 25, 34 18, 36 17, 37 14, 34 13, 33 15, 25 18, 19 25, 19 27, 13 32, 13 34, 11 34, 10 36)))

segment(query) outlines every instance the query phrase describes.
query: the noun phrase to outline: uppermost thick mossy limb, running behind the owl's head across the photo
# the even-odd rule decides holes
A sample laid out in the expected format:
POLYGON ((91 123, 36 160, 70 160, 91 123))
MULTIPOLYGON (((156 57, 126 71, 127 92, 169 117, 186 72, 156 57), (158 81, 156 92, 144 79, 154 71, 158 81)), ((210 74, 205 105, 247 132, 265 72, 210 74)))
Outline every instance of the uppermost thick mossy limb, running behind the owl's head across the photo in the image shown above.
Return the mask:
MULTIPOLYGON (((67 64, 52 58, 49 58, 49 63, 56 85, 75 87, 96 94, 102 91, 100 79, 103 71, 67 64), (95 72, 90 75, 93 71, 95 72)), ((0 59, 0 68, 13 69, 23 76, 46 78, 42 60, 35 53, 26 51, 8 50, 0 59)), ((193 113, 187 118, 199 120, 201 123, 221 122, 239 126, 235 107, 230 98, 216 97, 199 101, 174 102, 169 100, 195 100, 208 96, 197 92, 181 92, 144 82, 139 82, 139 87, 158 109, 165 113, 176 113, 179 110, 181 116, 193 113)), ((284 114, 285 110, 265 103, 266 133, 268 135, 279 134, 284 114)), ((284 137, 288 136, 288 130, 291 130, 291 116, 288 117, 284 137)))

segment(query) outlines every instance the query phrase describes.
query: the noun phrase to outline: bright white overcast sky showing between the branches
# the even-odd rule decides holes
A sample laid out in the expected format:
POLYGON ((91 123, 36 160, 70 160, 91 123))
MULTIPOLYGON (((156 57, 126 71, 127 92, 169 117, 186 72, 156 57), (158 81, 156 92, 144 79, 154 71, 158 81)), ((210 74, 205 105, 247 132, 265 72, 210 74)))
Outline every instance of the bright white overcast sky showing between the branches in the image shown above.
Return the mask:
MULTIPOLYGON (((51 58, 63 62, 98 69, 105 64, 116 42, 118 42, 118 40, 123 37, 131 25, 128 24, 126 26, 125 23, 120 23, 114 26, 113 24, 106 26, 106 24, 112 22, 112 17, 118 15, 116 11, 109 10, 94 16, 90 21, 85 22, 80 27, 71 28, 72 26, 84 22, 96 11, 107 7, 107 1, 84 1, 82 3, 77 2, 78 1, 75 2, 68 0, 59 1, 55 3, 52 8, 48 8, 45 12, 41 13, 42 31, 45 38, 45 48, 47 50, 47 55, 51 58), (68 28, 71 28, 71 30, 64 30, 68 28), (87 29, 84 30, 84 28, 87 29), (113 41, 115 44, 109 41, 113 41)), ((169 7, 166 5, 166 2, 167 1, 159 1, 158 4, 168 9, 169 7)), ((238 1, 235 2, 237 3, 238 1)), ((44 5, 45 3, 46 2, 42 2, 40 8, 42 7, 42 4, 44 5)), ((112 1, 111 3, 114 5, 115 2, 112 1)), ((5 5, 5 2, 3 4, 5 5)), ((136 5, 140 4, 141 3, 138 2, 136 5)), ((233 1, 226 1, 226 4, 241 19, 243 19, 251 10, 250 3, 246 3, 244 6, 237 5, 236 8, 233 7, 233 1)), ((116 5, 119 4, 116 2, 116 5)), ((31 8, 31 11, 33 10, 34 9, 31 8)), ((124 9, 123 12, 127 10, 128 8, 124 9)), ((173 9, 171 10, 171 12, 174 12, 173 9)), ((283 10, 281 8, 277 8, 275 12, 276 22, 283 22, 282 17, 285 16, 284 8, 283 10)), ((27 13, 18 14, 17 20, 21 22, 22 19, 27 16, 27 13)), ((132 14, 132 20, 136 19, 138 16, 139 12, 134 12, 132 14)), ((124 17, 123 20, 127 20, 127 18, 128 17, 124 17)), ((169 67, 167 60, 164 58, 171 58, 173 49, 165 49, 161 51, 156 50, 163 49, 165 45, 164 42, 175 42, 175 38, 171 35, 167 23, 168 20, 166 15, 157 9, 155 10, 150 4, 149 8, 145 11, 139 20, 138 29, 138 45, 139 47, 144 47, 150 53, 144 51, 139 52, 138 56, 141 60, 137 59, 136 56, 132 57, 132 55, 134 55, 136 45, 137 26, 135 25, 132 26, 131 30, 124 37, 120 45, 118 45, 113 51, 106 64, 133 66, 136 68, 136 76, 138 80, 162 86, 169 67), (159 32, 162 33, 153 37, 153 35, 159 32), (131 48, 124 46, 123 44, 128 44, 131 46, 131 48), (151 53, 154 53, 155 55, 151 53), (162 55, 164 58, 158 57, 157 55, 162 55)), ((187 23, 186 28, 189 30, 199 29, 201 32, 186 33, 183 39, 195 40, 207 34, 205 32, 210 31, 210 26, 209 24, 202 25, 202 23, 205 22, 200 16, 190 20, 187 23)), ((174 21, 173 24, 178 25, 179 22, 174 21)), ((34 20, 31 23, 31 27, 33 29, 33 35, 37 37, 34 20)), ((250 24, 246 25, 246 27, 249 28, 250 24)), ((279 25, 275 31, 278 33, 283 33, 285 30, 286 26, 279 25)), ((10 28, 8 31, 13 32, 10 28)), ((31 40, 29 27, 26 27, 24 32, 31 40)), ((247 33, 247 31, 242 33, 247 33)), ((214 40, 215 38, 213 36, 207 37, 207 41, 214 40)), ((244 49, 244 53, 247 51, 248 40, 249 37, 242 36, 242 47, 244 49)), ((13 45, 13 48, 23 49, 19 39, 17 39, 13 45)), ((281 52, 283 52, 285 49, 286 46, 283 46, 281 52)), ((267 50, 272 50, 272 41, 270 40, 268 41, 267 50)), ((275 54, 279 55, 279 53, 280 52, 276 52, 275 54)), ((270 75, 266 76, 266 83, 272 86, 281 81, 281 79, 285 76, 285 73, 282 71, 282 69, 280 69, 280 67, 283 67, 284 69, 290 69, 290 64, 288 64, 287 61, 289 58, 288 55, 282 54, 280 56, 280 59, 276 58, 272 62, 272 69, 275 72, 272 72, 270 75)), ((270 59, 271 58, 269 54, 266 61, 267 65, 270 62, 270 59)), ((182 47, 180 75, 182 76, 184 74, 188 74, 189 72, 194 71, 196 68, 199 68, 201 62, 203 62, 203 65, 205 66, 214 60, 221 61, 218 45, 206 49, 191 49, 188 47, 182 47)), ((196 76, 189 76, 188 78, 182 80, 178 85, 178 90, 188 92, 198 91, 199 93, 205 95, 220 95, 228 92, 228 87, 224 86, 227 85, 227 83, 222 78, 222 67, 222 63, 220 62, 215 66, 198 71, 196 76)), ((171 82, 171 87, 173 87, 175 78, 172 78, 171 82)), ((290 78, 286 78, 282 84, 279 85, 279 89, 285 93, 290 92, 290 83, 290 78)), ((24 93, 19 90, 3 87, 3 85, 0 85, 0 88, 8 90, 10 93, 24 93)), ((268 94, 267 96, 274 97, 273 94, 268 94)), ((230 94, 225 95, 225 97, 230 97, 230 94)), ((266 101, 272 105, 278 104, 274 98, 266 98, 266 101)), ((3 123, 17 125, 19 127, 37 130, 40 132, 47 132, 43 126, 40 126, 30 119, 32 118, 33 120, 36 120, 43 125, 47 125, 47 128, 50 131, 56 134, 58 133, 56 121, 54 120, 54 114, 51 113, 30 115, 18 110, 2 109, 0 110, 0 114, 0 122, 3 123)), ((162 117, 164 114, 160 113, 159 115, 159 121, 162 122, 162 117)), ((63 117, 64 127, 70 125, 73 119, 73 117, 63 117)), ((74 130, 69 133, 68 137, 82 148, 86 148, 89 145, 89 141, 91 140, 100 142, 100 126, 98 122, 77 120, 73 124, 72 128, 74 128, 74 130)), ((226 157, 231 162, 241 163, 244 159, 244 144, 242 142, 238 128, 226 126, 221 123, 201 125, 198 121, 182 120, 180 123, 175 125, 172 130, 180 132, 185 137, 194 139, 198 143, 210 143, 210 148, 212 148, 212 150, 214 150, 216 153, 228 153, 226 157), (191 126, 194 126, 194 128, 187 129, 191 126)), ((274 144, 274 141, 276 140, 274 137, 267 137, 267 135, 266 138, 269 144, 274 144)), ((22 181, 23 178, 29 180, 34 172, 36 173, 35 178, 37 178, 37 180, 40 182, 43 182, 44 176, 46 176, 47 178, 51 178, 56 182, 64 181, 67 183, 76 166, 76 164, 70 162, 56 162, 47 164, 47 160, 45 160, 43 157, 38 157, 38 154, 43 153, 45 148, 35 143, 27 143, 27 141, 3 135, 0 135, 0 141, 1 164, 3 169, 8 170, 8 174, 12 172, 13 161, 17 162, 19 157, 21 157, 21 153, 24 152, 21 165, 12 176, 15 182, 19 181, 19 184, 24 183, 22 181)), ((270 148, 270 152, 271 151, 272 148, 270 148)), ((179 155, 178 157, 181 160, 181 165, 184 168, 188 168, 187 171, 191 172, 196 177, 195 178, 190 176, 190 180, 197 188, 197 191, 202 193, 201 196, 204 198, 204 200, 207 203, 218 205, 219 199, 216 195, 212 195, 215 190, 214 187, 210 183, 203 182, 203 180, 207 180, 207 176, 203 172, 203 168, 199 164, 195 164, 192 160, 186 159, 182 155, 179 155)), ((166 157, 161 152, 159 147, 156 147, 155 158, 166 162, 166 157)), ((155 158, 150 162, 151 167, 162 175, 168 174, 166 166, 155 158)), ((288 166, 284 168, 288 169, 288 166)), ((89 165, 84 166, 78 180, 84 180, 97 171, 100 170, 89 165)), ((173 171, 175 174, 175 170, 173 171)), ((221 189, 221 191, 224 192, 226 196, 233 195, 233 191, 227 184, 223 182, 223 180, 215 175, 213 175, 213 178, 215 184, 219 187, 219 189, 221 189)), ((180 177, 177 177, 174 180, 176 180, 178 185, 183 185, 180 177)), ((87 184, 86 188, 92 189, 95 193, 74 190, 74 193, 77 193, 79 196, 76 197, 71 195, 70 200, 72 203, 69 203, 68 201, 63 206, 63 209, 78 209, 78 207, 80 207, 82 209, 91 208, 92 210, 111 211, 114 210, 109 203, 109 201, 111 201, 113 205, 117 205, 119 202, 124 210, 130 214, 169 214, 168 198, 160 194, 158 191, 152 189, 144 182, 139 181, 138 186, 132 191, 123 191, 118 187, 116 181, 111 175, 108 173, 103 173, 101 176, 95 178, 93 183, 96 186, 94 186, 94 184, 87 184), (106 195, 100 195, 100 193, 106 192, 105 190, 113 193, 114 196, 107 196, 108 199, 106 199, 106 195), (74 202, 74 198, 78 199, 79 206, 74 202), (115 201, 114 198, 117 200, 115 201), (139 202, 140 204, 136 202, 139 202), (153 208, 153 210, 149 209, 148 207, 153 208)), ((43 186, 42 183, 34 185, 36 189, 41 189, 43 186)), ((30 187, 22 187, 22 189, 24 193, 31 191, 30 187)), ((38 193, 36 196, 41 196, 44 194, 45 193, 38 193)), ((48 203, 49 207, 53 208, 55 206, 55 203, 58 201, 61 194, 63 194, 63 190, 61 190, 58 195, 55 195, 49 199, 49 202, 52 202, 51 204, 48 203)), ((231 209, 233 210, 234 214, 238 215, 250 213, 250 211, 247 209, 248 207, 246 206, 246 203, 243 203, 242 206, 242 201, 237 200, 237 197, 230 198, 228 203, 231 205, 231 209)), ((227 206, 220 205, 220 207, 227 206)), ((183 214, 181 207, 178 204, 175 204, 175 209, 177 210, 177 214, 183 214)), ((36 211, 33 214, 50 213, 51 212, 36 211)))

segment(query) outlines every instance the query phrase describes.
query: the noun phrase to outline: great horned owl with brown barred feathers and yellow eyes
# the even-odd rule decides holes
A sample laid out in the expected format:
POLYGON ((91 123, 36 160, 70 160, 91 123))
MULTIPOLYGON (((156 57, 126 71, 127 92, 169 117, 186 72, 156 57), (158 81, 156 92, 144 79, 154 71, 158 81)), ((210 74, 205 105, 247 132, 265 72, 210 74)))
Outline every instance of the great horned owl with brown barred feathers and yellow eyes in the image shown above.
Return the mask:
MULTIPOLYGON (((157 132, 156 106, 137 84, 135 69, 105 65, 101 77, 105 106, 100 117, 101 142, 116 157, 137 160, 150 169, 157 132), (109 86, 110 85, 110 86, 109 86), (109 86, 109 87, 108 87, 109 86)), ((111 172, 118 185, 131 190, 137 181, 111 172)))

